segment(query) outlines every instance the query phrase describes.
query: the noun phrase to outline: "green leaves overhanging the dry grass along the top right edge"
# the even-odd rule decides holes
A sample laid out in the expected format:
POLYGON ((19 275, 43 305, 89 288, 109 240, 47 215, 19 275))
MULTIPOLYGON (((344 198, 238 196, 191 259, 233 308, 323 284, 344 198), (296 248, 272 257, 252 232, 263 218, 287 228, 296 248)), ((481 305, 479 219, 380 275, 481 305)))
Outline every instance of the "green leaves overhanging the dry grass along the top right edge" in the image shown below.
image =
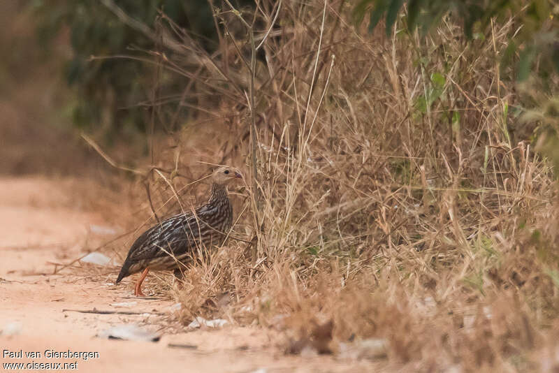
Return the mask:
POLYGON ((549 27, 550 22, 557 26, 557 20, 553 19, 553 12, 557 13, 557 10, 552 8, 549 1, 361 0, 354 8, 354 20, 361 24, 365 14, 369 13, 369 29, 372 30, 384 17, 386 34, 391 34, 404 3, 407 5, 406 24, 409 31, 419 28, 421 34, 425 35, 439 23, 442 16, 448 14, 462 23, 464 34, 470 40, 474 38, 476 30, 483 35, 493 17, 514 14, 523 27, 516 36, 517 42, 509 45, 503 61, 509 61, 516 51, 520 51, 519 80, 528 78, 537 56, 546 57, 559 72, 558 27, 549 27))

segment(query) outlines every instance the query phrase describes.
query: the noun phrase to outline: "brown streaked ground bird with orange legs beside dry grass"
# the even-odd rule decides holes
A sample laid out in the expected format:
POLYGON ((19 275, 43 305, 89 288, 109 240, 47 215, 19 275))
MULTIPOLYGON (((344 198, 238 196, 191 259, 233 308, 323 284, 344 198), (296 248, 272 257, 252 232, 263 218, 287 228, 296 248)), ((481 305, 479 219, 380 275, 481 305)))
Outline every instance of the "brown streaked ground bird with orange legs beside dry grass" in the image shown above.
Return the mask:
POLYGON ((198 247, 222 245, 233 223, 227 184, 235 179, 242 179, 239 170, 220 166, 212 173, 208 203, 194 212, 176 214, 142 233, 130 247, 116 284, 141 271, 134 295, 145 296, 141 286, 150 270, 174 270, 177 276, 179 265, 194 258, 198 247))

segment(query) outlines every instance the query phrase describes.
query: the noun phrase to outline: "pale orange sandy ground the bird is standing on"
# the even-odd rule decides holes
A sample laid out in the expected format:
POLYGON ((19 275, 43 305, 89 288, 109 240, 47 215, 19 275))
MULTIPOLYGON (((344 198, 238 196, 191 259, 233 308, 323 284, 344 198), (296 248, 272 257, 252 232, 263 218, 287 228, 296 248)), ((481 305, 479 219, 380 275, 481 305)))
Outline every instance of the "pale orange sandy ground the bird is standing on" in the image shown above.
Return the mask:
POLYGON ((72 203, 70 188, 71 183, 43 177, 0 179, 0 363, 76 363, 80 372, 370 370, 369 365, 331 356, 285 356, 270 331, 260 328, 224 326, 186 332, 174 321, 173 301, 133 298, 133 279, 126 279, 122 286, 112 284, 116 269, 106 270, 104 276, 88 276, 79 269, 53 274, 52 263, 69 263, 83 254, 80 243, 84 240, 111 237, 92 237, 92 227, 99 232, 103 218, 72 203), (115 306, 122 302, 137 303, 115 306), (63 312, 94 308, 143 314, 63 312), (103 330, 130 324, 162 337, 159 342, 97 337, 103 330), (21 350, 23 356, 10 358, 6 350, 21 350), (47 358, 45 350, 91 351, 99 353, 99 358, 47 358), (41 353, 41 358, 26 356, 33 351, 41 353))

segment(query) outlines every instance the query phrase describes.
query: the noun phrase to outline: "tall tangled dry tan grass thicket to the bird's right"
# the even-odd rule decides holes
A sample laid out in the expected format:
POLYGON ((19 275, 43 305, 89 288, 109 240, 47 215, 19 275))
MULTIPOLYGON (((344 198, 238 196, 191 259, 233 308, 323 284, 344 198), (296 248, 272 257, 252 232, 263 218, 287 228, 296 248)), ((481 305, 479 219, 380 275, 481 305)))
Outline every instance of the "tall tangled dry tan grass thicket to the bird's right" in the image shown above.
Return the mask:
MULTIPOLYGON (((260 5, 256 36, 277 9, 260 5)), ((556 184, 525 128, 513 131, 522 103, 499 55, 514 20, 467 44, 448 20, 424 40, 367 34, 350 10, 282 3, 254 76, 259 193, 251 203, 249 182, 234 197, 234 234, 259 240, 191 265, 173 288, 184 321, 282 328, 296 352, 383 339, 376 359, 393 370, 558 369, 556 184)), ((173 199, 168 182, 185 185, 177 170, 203 175, 195 160, 246 160, 251 175, 249 41, 231 12, 217 17, 230 34, 212 56, 162 22, 187 46, 155 54, 163 79, 191 75, 180 104, 206 114, 176 147, 156 145, 168 177, 150 173, 156 207, 173 199)))

